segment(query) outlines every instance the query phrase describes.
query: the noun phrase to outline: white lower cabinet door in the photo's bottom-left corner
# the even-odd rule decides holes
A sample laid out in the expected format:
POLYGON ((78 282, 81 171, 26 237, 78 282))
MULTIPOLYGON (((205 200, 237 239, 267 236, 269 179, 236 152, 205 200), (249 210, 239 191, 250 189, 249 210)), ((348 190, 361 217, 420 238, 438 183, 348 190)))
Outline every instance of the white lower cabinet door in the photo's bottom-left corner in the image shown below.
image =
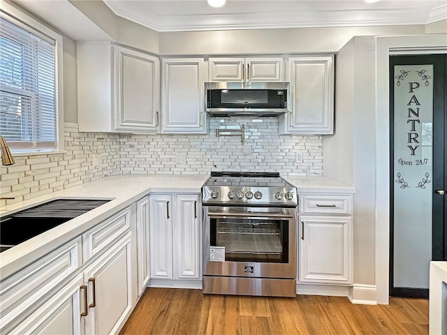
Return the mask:
POLYGON ((25 317, 14 329, 5 329, 4 334, 85 334, 80 303, 80 286, 82 274, 78 274, 52 295, 45 303, 38 306, 34 313, 25 317))

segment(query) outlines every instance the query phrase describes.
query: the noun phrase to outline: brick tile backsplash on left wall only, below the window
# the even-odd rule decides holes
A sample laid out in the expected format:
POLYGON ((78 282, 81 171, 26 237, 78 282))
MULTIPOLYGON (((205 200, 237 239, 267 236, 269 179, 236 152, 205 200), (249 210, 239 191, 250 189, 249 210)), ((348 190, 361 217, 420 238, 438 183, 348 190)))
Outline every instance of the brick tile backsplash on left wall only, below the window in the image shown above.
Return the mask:
POLYGON ((110 149, 112 145, 119 148, 120 135, 79 133, 78 124, 65 124, 64 137, 64 154, 20 156, 15 158, 14 165, 0 168, 1 196, 15 197, 0 200, 0 206, 104 177, 104 167, 93 166, 92 155, 100 151, 98 148, 105 153, 103 164, 108 168, 107 173, 120 173, 119 149, 110 149), (84 147, 81 143, 87 145, 84 147), (113 156, 118 159, 113 160, 113 156))

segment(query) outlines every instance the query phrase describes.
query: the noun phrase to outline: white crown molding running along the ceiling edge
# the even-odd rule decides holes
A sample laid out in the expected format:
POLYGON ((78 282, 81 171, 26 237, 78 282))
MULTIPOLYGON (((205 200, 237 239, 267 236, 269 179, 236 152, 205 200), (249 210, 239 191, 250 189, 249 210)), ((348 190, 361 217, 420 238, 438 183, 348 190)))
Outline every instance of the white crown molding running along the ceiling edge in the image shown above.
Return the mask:
MULTIPOLYGON (((271 20, 270 14, 258 13, 237 13, 233 15, 210 14, 210 15, 148 15, 144 19, 131 15, 119 9, 111 0, 103 2, 112 10, 115 15, 126 20, 141 24, 144 27, 158 32, 174 31, 217 31, 217 30, 240 30, 240 29, 281 29, 281 28, 316 28, 316 27, 367 27, 367 26, 394 26, 411 24, 428 24, 447 19, 447 5, 437 6, 430 10, 430 16, 426 19, 418 18, 417 8, 405 10, 405 20, 399 20, 396 10, 368 10, 370 18, 363 20, 346 20, 344 17, 360 17, 359 10, 340 10, 334 14, 331 10, 321 10, 320 20, 310 21, 311 12, 303 11, 300 17, 296 13, 281 13, 282 22, 268 22, 271 20), (380 19, 376 19, 380 17, 380 19), (300 22, 291 23, 300 19, 300 22), (258 21, 258 22, 256 22, 258 21), (225 22, 225 23, 214 23, 225 22), (261 23, 262 22, 262 23, 261 23)), ((365 15, 364 15, 365 16, 365 15)))

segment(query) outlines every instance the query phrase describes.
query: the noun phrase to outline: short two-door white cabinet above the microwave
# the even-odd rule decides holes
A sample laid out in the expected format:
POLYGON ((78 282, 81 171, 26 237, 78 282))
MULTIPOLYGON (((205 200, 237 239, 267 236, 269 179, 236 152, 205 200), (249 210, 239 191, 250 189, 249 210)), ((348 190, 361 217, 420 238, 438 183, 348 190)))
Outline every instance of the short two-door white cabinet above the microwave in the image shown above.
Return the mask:
POLYGON ((284 82, 283 57, 215 57, 208 60, 210 82, 284 82))

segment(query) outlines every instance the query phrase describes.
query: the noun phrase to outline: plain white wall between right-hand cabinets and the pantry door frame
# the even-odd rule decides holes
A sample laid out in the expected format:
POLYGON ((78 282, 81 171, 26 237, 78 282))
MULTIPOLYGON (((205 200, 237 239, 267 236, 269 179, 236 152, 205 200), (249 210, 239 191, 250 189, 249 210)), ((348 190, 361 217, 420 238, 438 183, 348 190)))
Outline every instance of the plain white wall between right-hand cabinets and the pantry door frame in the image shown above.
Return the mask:
POLYGON ((375 283, 375 38, 352 38, 337 54, 334 135, 323 137, 323 174, 356 188, 354 283, 375 283))

